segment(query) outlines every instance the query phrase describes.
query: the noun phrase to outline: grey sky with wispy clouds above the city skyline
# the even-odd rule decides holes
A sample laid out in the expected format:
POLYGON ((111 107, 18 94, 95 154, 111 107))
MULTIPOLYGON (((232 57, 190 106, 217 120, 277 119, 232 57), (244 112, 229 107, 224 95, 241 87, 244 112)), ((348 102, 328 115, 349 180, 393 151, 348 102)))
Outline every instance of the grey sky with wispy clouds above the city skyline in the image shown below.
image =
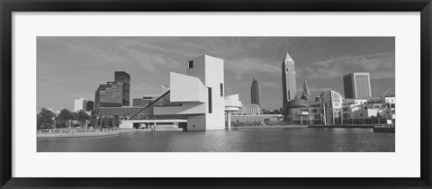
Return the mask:
POLYGON ((37 108, 73 110, 74 100, 94 101, 114 71, 130 74, 133 98, 161 93, 169 72, 186 74, 186 60, 207 54, 224 60, 225 95, 250 103, 254 78, 260 106, 282 107, 282 63, 295 62, 297 96, 306 79, 311 96, 344 95, 342 76, 369 72, 373 95, 395 87, 393 37, 38 37, 37 108))

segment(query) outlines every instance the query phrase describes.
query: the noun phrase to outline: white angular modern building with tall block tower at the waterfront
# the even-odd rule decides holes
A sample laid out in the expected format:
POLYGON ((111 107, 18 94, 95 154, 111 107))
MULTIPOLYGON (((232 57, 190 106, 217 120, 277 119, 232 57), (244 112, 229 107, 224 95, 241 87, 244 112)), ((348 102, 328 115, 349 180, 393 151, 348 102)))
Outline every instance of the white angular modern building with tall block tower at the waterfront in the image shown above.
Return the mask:
MULTIPOLYGON (((223 64, 222 59, 208 55, 187 60, 187 75, 170 73, 169 91, 159 97, 167 102, 150 104, 152 113, 156 117, 185 115, 187 130, 225 130, 225 111, 238 111, 241 102, 238 95, 225 98, 223 64)), ((131 127, 128 122, 122 121, 121 127, 131 127)))

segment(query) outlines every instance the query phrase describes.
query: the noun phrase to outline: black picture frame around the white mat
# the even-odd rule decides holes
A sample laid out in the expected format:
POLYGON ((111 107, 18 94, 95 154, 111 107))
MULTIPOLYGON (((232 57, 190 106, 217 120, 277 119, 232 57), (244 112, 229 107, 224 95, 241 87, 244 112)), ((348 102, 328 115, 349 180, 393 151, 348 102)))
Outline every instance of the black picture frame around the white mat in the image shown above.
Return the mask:
MULTIPOLYGON (((1 188, 431 188, 430 0, 1 0, 1 188), (14 12, 420 12, 421 176, 419 178, 14 178, 12 14, 14 12)), ((410 162, 407 162, 410 163, 410 162)))

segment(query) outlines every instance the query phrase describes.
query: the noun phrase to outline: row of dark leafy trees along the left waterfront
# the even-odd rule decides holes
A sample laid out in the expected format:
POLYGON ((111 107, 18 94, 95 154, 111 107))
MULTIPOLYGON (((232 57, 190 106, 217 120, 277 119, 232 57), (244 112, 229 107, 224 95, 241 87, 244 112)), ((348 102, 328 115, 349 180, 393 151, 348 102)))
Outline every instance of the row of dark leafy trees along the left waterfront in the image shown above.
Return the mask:
POLYGON ((42 108, 37 114, 37 129, 55 129, 55 128, 67 128, 69 127, 69 121, 71 126, 88 126, 88 127, 102 127, 112 128, 118 127, 121 120, 118 116, 112 118, 100 118, 97 115, 89 115, 85 111, 70 112, 67 109, 63 109, 56 115, 56 113, 49 111, 46 108, 42 108))

